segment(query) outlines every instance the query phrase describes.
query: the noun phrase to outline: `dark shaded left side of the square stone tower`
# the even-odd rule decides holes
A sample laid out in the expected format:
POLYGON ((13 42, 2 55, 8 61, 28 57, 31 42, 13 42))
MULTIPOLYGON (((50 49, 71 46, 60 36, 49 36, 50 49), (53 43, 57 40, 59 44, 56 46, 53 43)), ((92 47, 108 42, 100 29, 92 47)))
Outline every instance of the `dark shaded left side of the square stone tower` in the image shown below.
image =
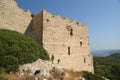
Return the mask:
POLYGON ((43 13, 35 16, 31 23, 29 24, 25 34, 32 37, 38 43, 42 45, 42 36, 43 36, 43 13))

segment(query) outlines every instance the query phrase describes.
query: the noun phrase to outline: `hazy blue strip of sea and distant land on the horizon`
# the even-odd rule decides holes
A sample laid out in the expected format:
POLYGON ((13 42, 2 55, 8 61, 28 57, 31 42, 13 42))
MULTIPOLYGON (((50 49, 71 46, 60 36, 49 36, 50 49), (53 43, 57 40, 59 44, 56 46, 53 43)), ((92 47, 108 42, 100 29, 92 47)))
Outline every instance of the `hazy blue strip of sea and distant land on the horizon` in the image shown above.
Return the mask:
POLYGON ((96 57, 106 57, 111 54, 120 53, 120 50, 96 50, 91 52, 96 57))

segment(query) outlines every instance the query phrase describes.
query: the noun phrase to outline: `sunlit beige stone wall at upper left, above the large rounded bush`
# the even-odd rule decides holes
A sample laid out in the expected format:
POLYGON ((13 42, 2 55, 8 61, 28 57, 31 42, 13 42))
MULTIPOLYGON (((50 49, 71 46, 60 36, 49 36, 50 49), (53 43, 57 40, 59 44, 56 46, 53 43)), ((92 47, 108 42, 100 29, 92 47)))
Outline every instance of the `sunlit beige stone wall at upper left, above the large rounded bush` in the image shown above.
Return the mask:
POLYGON ((31 12, 20 9, 15 0, 0 0, 0 29, 24 33, 31 19, 31 12))

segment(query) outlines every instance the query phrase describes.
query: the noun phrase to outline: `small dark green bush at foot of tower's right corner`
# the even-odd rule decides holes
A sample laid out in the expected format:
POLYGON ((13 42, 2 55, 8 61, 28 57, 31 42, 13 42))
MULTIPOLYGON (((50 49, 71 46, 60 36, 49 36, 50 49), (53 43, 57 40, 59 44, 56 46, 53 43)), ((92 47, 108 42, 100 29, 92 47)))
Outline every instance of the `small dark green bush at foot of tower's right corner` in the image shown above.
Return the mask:
POLYGON ((87 72, 87 71, 83 72, 83 77, 85 78, 85 80, 105 80, 101 76, 92 74, 92 73, 87 72))

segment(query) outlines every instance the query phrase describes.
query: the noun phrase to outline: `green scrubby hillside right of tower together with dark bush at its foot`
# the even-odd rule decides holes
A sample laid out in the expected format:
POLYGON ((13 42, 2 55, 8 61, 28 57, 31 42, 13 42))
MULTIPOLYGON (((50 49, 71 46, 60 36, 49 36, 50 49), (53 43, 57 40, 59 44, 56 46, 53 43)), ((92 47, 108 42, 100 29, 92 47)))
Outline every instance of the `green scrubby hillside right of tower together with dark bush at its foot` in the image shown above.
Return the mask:
POLYGON ((86 80, 110 80, 120 79, 120 54, 113 54, 108 57, 94 57, 94 74, 83 72, 83 77, 86 80))

